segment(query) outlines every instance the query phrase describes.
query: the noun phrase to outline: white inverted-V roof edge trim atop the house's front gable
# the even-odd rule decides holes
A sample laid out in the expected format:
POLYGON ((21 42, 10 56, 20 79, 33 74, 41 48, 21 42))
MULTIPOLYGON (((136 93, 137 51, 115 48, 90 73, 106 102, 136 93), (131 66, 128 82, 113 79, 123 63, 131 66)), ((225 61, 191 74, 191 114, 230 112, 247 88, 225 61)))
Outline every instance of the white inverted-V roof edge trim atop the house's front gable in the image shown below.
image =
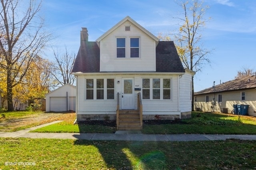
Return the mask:
POLYGON ((139 28, 140 30, 142 30, 142 32, 144 32, 146 35, 148 35, 150 38, 152 38, 153 40, 155 40, 156 42, 159 42, 159 39, 154 36, 152 33, 150 33, 148 30, 146 30, 145 28, 143 28, 140 24, 138 24, 137 22, 135 22, 132 18, 130 18, 129 16, 126 16, 124 19, 122 19, 120 22, 118 22, 115 26, 113 26, 112 28, 110 28, 110 30, 108 30, 107 32, 105 32, 102 36, 100 36, 96 42, 100 42, 101 40, 103 40, 106 36, 108 36, 109 34, 111 34, 114 30, 116 30, 116 28, 118 28, 119 26, 121 26, 122 24, 124 24, 124 22, 129 21, 132 24, 134 24, 137 28, 139 28))

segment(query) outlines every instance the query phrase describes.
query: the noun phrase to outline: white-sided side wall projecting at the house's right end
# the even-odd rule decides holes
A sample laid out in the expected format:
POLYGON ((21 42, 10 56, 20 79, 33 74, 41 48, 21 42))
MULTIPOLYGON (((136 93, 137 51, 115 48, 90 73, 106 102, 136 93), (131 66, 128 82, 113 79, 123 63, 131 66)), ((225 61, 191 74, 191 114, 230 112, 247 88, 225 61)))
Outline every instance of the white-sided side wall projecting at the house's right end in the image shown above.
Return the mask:
POLYGON ((179 79, 180 81, 180 111, 189 112, 192 110, 191 105, 191 83, 192 75, 190 73, 185 73, 179 79))

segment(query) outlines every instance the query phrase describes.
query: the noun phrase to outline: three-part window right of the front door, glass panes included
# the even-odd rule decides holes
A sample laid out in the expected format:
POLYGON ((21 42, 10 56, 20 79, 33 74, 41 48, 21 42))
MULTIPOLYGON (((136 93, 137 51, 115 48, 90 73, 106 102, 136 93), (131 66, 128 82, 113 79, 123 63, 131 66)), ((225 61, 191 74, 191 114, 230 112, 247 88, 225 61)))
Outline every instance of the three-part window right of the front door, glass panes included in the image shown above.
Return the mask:
POLYGON ((142 99, 170 100, 172 79, 145 78, 142 79, 142 99))

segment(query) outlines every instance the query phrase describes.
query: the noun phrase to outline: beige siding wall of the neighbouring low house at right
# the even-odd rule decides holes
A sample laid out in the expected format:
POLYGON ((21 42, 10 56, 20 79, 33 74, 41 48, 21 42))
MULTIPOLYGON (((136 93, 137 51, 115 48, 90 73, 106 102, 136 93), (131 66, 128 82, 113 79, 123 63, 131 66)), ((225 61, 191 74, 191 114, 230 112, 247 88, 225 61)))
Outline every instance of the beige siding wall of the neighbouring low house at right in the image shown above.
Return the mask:
MULTIPOLYGON (((214 93, 207 94, 209 95, 209 103, 205 102, 206 95, 196 95, 196 102, 194 102, 195 108, 200 108, 202 111, 213 111, 211 109, 212 106, 212 99, 214 98, 214 93)), ((230 91, 230 92, 223 92, 223 93, 215 93, 215 101, 216 105, 214 106, 214 111, 222 112, 223 108, 228 108, 228 113, 231 113, 233 110, 234 104, 241 104, 241 105, 250 105, 248 108, 248 115, 256 116, 256 90, 249 89, 249 90, 240 90, 240 91, 230 91), (241 100, 241 92, 245 92, 245 101, 241 100), (222 102, 218 102, 218 94, 222 95, 222 102)))

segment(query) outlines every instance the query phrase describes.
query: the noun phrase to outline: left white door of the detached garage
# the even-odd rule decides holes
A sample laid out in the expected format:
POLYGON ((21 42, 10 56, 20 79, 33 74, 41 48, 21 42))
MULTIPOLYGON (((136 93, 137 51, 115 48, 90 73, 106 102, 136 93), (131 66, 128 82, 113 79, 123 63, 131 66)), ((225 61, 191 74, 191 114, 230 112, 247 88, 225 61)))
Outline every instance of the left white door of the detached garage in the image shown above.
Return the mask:
POLYGON ((67 111, 66 97, 50 97, 50 111, 67 111))

